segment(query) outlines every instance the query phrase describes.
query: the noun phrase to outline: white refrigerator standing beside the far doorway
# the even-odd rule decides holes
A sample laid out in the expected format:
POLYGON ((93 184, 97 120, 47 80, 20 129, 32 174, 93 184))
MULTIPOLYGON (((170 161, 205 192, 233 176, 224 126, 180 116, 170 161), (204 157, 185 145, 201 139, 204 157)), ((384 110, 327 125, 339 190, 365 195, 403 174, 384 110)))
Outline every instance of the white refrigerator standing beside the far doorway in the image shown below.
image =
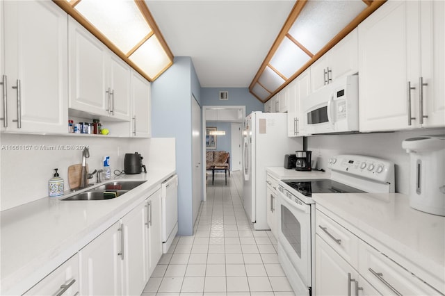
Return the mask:
POLYGON ((254 229, 267 224, 266 167, 283 165, 283 156, 302 149, 302 139, 287 137, 286 113, 253 112, 243 131, 243 204, 254 229))

